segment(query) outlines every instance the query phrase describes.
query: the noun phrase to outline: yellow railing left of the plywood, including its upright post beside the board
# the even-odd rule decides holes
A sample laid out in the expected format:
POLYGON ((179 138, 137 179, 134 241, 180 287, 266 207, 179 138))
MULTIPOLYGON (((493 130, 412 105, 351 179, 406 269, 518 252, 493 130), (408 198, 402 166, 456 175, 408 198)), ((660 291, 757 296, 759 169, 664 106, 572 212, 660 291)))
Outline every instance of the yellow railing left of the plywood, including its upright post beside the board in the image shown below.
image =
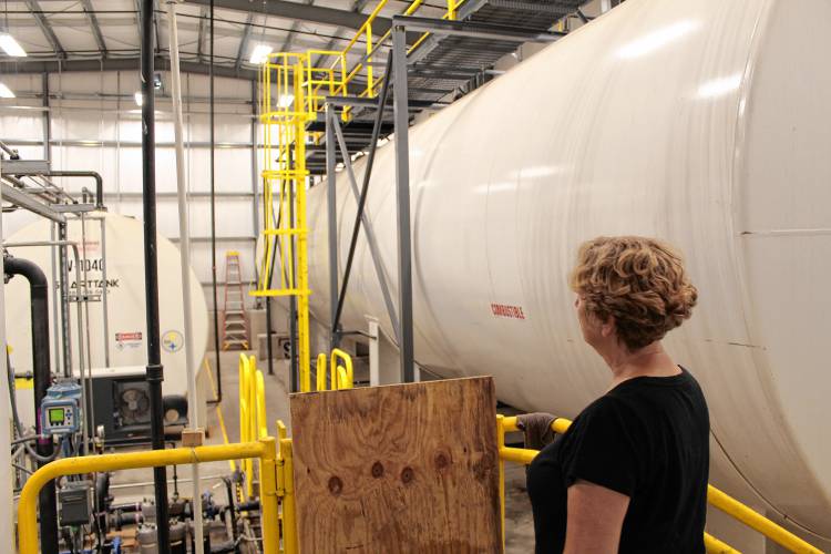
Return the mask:
MULTIPOLYGON (((20 493, 18 504, 20 554, 38 553, 38 493, 50 481, 64 475, 257 458, 261 469, 260 506, 263 521, 276 521, 278 517, 278 455, 277 441, 273 437, 265 437, 256 442, 88 455, 50 462, 29 478, 20 493)), ((277 554, 279 552, 277 525, 263 525, 263 552, 265 554, 277 554)))

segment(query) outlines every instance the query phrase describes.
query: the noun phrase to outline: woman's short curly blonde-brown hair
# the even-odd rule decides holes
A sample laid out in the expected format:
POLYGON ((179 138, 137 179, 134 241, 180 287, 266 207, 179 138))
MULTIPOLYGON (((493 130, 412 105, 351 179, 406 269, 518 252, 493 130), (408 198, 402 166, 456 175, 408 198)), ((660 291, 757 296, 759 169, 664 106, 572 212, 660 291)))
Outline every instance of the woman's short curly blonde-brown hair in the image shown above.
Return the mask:
POLYGON ((617 338, 635 351, 664 338, 693 315, 698 290, 681 256, 654 238, 597 237, 581 245, 572 290, 587 314, 615 318, 617 338))

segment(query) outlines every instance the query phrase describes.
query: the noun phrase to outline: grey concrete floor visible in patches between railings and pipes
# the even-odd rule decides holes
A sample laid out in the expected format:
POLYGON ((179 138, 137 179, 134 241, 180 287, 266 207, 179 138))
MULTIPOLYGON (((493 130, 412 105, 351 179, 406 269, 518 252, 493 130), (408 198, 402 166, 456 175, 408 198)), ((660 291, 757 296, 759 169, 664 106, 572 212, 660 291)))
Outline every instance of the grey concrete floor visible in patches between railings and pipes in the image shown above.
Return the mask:
MULTIPOLYGON (((220 404, 209 406, 207 409, 207 443, 220 444, 223 442, 222 425, 219 414, 225 423, 227 439, 229 442, 239 440, 239 392, 238 392, 238 360, 239 351, 222 352, 222 389, 223 401, 220 404)), ((213 368, 214 355, 208 353, 208 360, 213 368)), ((275 375, 269 376, 265 361, 258 361, 258 368, 263 371, 265 378, 265 389, 267 397, 267 417, 268 428, 271 432, 275 430, 275 421, 280 419, 289 428, 290 421, 288 412, 288 387, 286 377, 288 368, 285 360, 275 361, 275 375)), ((209 387, 207 387, 209 390, 209 387)), ((202 491, 211 491, 216 495, 217 502, 225 503, 225 491, 222 486, 223 475, 230 472, 227 462, 212 462, 201 465, 201 476, 203 480, 202 491)), ((509 554, 529 553, 534 550, 534 526, 531 516, 531 505, 527 493, 525 492, 525 469, 515 464, 506 464, 506 483, 505 483, 505 551, 509 554)), ((176 470, 179 480, 179 494, 183 496, 192 495, 192 483, 186 481, 191 479, 192 471, 189 465, 181 465, 176 470)), ((168 468, 167 479, 173 479, 173 470, 168 468)), ((113 493, 117 496, 116 502, 133 502, 144 497, 153 497, 153 473, 152 470, 129 470, 117 472, 113 475, 113 493), (138 483, 135 485, 134 483, 138 483)), ((168 495, 173 495, 173 485, 168 485, 168 495)))

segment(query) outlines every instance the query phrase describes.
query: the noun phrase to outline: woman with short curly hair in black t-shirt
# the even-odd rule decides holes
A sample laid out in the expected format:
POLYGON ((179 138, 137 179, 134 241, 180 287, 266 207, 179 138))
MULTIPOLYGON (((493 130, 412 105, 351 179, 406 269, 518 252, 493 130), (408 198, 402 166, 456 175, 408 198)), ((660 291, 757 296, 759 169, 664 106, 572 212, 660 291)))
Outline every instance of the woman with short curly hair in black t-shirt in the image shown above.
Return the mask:
POLYGON ((611 382, 529 469, 536 552, 705 552, 707 402, 660 343, 696 305, 680 256, 652 238, 596 238, 571 287, 611 382))

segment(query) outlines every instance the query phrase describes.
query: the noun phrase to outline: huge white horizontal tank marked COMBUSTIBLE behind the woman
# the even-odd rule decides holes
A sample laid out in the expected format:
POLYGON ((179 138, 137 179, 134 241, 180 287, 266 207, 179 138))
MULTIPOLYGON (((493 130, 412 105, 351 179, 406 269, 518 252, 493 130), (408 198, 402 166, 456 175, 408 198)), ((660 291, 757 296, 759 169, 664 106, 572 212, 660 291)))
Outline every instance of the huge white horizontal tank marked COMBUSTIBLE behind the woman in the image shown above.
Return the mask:
MULTIPOLYGON (((628 0, 411 129, 417 361, 574 416, 609 379, 566 285, 578 244, 668 239, 700 289, 667 342, 707 392, 712 482, 831 536, 830 28, 827 0, 628 0)), ((394 297, 393 170, 387 145, 368 213, 394 297)), ((345 173, 338 203, 343 264, 345 173)), ((311 205, 326 321, 325 185, 311 205)), ((368 314, 391 335, 361 236, 345 325, 368 314)))

